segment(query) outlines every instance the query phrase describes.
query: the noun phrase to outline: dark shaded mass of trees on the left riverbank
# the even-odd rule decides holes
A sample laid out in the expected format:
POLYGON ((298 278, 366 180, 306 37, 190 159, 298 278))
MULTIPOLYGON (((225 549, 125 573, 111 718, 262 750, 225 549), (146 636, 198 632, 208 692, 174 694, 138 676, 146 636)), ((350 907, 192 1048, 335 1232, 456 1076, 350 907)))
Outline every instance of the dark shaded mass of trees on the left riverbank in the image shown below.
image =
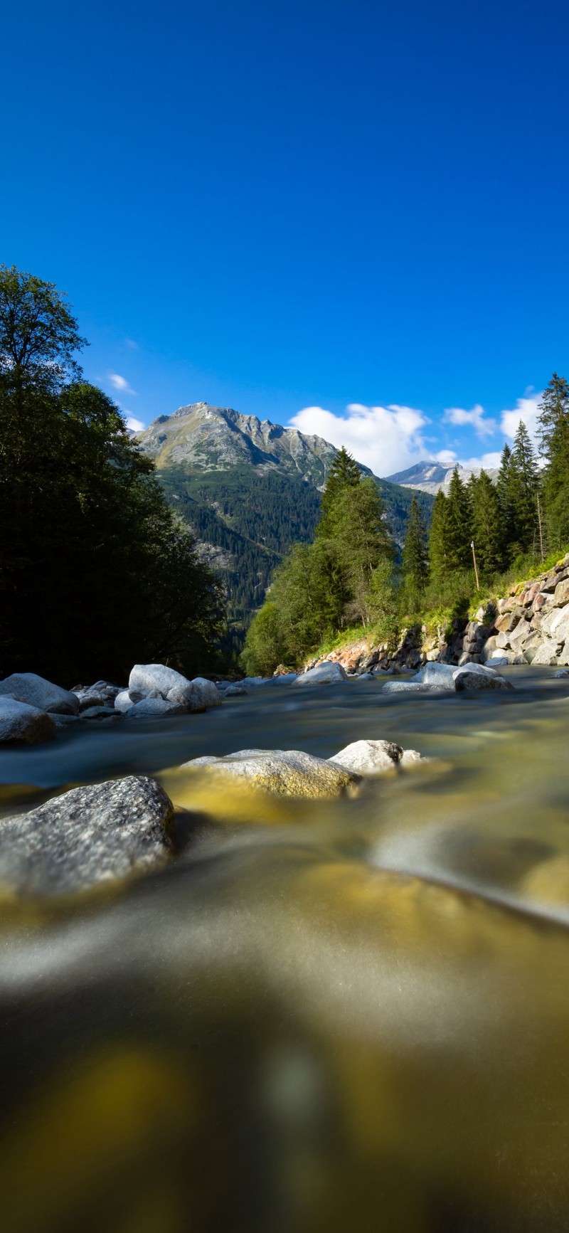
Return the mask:
POLYGON ((0 266, 0 676, 126 679, 212 663, 217 576, 170 510, 55 286, 0 266))

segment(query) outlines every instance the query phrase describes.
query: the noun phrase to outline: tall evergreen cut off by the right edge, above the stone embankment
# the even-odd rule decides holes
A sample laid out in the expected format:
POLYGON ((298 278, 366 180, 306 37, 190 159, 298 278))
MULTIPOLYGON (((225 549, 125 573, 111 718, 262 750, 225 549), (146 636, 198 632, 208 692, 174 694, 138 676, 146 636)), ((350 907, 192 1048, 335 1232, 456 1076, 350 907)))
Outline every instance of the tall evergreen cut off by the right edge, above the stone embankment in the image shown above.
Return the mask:
POLYGON ((553 374, 539 403, 539 438, 546 470, 543 503, 549 545, 569 543, 569 383, 553 374))

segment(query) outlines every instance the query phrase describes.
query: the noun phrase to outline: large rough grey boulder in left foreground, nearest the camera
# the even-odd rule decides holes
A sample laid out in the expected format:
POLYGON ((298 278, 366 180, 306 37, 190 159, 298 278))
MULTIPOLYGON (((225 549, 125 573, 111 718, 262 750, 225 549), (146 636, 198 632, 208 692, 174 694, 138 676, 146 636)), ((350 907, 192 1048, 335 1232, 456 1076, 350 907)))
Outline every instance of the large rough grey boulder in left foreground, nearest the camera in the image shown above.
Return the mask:
POLYGON ((0 822, 0 885, 63 895, 160 868, 172 817, 164 789, 145 776, 73 788, 0 822))

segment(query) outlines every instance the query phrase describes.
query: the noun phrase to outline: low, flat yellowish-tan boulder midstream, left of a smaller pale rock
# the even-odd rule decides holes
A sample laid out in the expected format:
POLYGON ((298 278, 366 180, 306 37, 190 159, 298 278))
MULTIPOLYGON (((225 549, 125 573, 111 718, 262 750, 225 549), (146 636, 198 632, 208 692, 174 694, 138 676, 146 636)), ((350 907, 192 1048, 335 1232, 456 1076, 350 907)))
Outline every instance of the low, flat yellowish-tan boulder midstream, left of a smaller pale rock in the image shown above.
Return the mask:
POLYGON ((239 750, 222 758, 192 758, 184 767, 241 779, 280 797, 339 797, 360 782, 353 772, 299 750, 239 750))

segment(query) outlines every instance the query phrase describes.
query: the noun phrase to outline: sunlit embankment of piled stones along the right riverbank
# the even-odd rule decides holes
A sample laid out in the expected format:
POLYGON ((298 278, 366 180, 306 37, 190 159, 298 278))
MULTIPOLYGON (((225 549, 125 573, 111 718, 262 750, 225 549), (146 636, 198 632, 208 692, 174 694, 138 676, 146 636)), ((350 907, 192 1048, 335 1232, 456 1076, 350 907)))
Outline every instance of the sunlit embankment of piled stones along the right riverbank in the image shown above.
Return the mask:
POLYGON ((349 673, 419 668, 430 661, 462 667, 486 663, 569 665, 569 554, 538 578, 511 587, 507 596, 479 608, 473 620, 454 620, 448 639, 425 626, 403 629, 393 650, 362 637, 307 668, 331 662, 349 673))

